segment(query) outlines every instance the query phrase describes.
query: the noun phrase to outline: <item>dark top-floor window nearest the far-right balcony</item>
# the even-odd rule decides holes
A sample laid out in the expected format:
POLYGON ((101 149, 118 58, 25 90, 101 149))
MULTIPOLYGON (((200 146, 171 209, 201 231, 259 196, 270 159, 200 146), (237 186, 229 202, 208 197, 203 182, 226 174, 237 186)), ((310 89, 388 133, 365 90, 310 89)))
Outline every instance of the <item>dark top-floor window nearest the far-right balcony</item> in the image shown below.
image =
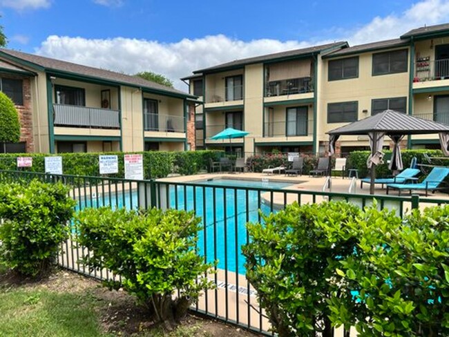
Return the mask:
POLYGON ((372 55, 372 75, 405 73, 408 70, 406 49, 372 55))

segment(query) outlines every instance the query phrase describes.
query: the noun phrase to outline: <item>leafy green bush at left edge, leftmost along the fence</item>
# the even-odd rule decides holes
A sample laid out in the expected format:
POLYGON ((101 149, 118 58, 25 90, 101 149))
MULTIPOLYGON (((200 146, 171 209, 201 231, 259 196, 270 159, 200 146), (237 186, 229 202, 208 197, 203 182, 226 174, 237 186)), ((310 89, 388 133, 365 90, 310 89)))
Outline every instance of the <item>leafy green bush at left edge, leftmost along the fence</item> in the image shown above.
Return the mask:
POLYGON ((0 185, 0 253, 12 270, 44 276, 66 240, 75 202, 62 184, 0 185))

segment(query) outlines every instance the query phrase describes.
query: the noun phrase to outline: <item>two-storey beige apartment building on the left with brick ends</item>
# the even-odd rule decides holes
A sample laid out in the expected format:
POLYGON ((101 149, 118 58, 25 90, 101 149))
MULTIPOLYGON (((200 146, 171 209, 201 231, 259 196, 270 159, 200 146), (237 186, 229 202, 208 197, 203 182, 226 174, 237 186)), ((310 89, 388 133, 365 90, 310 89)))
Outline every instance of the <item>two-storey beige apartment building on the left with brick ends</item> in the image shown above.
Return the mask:
POLYGON ((8 152, 184 151, 190 146, 187 126, 195 97, 180 90, 7 49, 0 50, 0 79, 21 122, 21 142, 8 144, 8 152))

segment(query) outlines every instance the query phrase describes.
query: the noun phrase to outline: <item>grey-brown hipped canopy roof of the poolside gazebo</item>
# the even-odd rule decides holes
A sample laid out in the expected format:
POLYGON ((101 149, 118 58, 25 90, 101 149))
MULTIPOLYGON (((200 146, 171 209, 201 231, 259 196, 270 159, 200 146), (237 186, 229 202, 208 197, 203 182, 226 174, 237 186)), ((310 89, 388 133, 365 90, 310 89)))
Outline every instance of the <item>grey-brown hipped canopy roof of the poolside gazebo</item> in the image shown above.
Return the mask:
POLYGON ((367 133, 385 133, 386 135, 422 135, 441 132, 449 132, 449 126, 394 110, 385 110, 383 113, 366 117, 340 128, 334 128, 327 134, 366 135, 367 133))

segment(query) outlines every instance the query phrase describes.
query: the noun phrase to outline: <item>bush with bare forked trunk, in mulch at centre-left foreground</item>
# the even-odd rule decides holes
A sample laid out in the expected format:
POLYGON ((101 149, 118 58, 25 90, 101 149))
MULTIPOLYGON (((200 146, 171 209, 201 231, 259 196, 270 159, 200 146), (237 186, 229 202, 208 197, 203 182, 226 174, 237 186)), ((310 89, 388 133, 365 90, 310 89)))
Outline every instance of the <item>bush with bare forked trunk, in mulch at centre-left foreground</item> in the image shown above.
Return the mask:
MULTIPOLYGON (((166 327, 173 327, 200 291, 211 287, 204 277, 211 265, 195 249, 201 227, 193 212, 86 209, 75 224, 79 244, 90 251, 84 263, 122 276, 124 289, 166 327)), ((106 284, 120 287, 114 281, 106 284)))

